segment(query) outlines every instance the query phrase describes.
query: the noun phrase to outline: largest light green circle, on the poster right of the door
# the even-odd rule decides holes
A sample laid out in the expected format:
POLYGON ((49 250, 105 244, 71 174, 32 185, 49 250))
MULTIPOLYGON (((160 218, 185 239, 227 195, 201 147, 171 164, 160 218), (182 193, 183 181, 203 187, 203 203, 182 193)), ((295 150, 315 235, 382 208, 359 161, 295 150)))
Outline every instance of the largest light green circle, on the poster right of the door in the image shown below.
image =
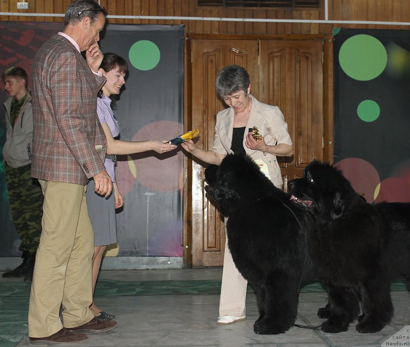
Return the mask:
POLYGON ((352 79, 370 81, 380 75, 387 65, 383 44, 371 35, 355 35, 340 47, 339 64, 352 79))

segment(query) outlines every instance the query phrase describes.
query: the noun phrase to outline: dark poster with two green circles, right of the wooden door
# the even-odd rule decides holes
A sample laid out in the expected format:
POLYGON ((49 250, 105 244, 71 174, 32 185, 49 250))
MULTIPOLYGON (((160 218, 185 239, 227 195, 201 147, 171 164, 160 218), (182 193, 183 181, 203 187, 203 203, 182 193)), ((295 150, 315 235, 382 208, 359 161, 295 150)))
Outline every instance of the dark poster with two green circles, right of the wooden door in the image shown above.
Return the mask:
POLYGON ((334 162, 367 202, 410 201, 410 33, 334 29, 334 162))

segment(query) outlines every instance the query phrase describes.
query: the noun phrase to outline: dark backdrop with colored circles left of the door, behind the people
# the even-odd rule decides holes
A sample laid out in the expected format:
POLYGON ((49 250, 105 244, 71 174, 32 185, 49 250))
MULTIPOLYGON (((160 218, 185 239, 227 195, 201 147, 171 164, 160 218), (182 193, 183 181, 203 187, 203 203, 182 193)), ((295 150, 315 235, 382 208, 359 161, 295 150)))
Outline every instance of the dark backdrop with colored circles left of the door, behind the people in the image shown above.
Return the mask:
MULTIPOLYGON (((7 22, 0 24, 0 29, 1 72, 11 65, 30 71, 35 52, 62 24, 7 22)), ((114 109, 121 140, 170 140, 183 132, 184 36, 183 26, 106 26, 99 42, 101 51, 115 52, 129 65, 126 85, 114 109)), ((0 88, 3 103, 3 81, 0 88)), ((2 109, 0 147, 4 142, 2 109)), ((116 177, 124 207, 116 215, 118 244, 110 247, 108 255, 182 256, 182 158, 181 148, 166 155, 149 151, 118 156, 116 177)), ((20 240, 10 218, 2 163, 0 256, 15 256, 20 254, 20 240)))

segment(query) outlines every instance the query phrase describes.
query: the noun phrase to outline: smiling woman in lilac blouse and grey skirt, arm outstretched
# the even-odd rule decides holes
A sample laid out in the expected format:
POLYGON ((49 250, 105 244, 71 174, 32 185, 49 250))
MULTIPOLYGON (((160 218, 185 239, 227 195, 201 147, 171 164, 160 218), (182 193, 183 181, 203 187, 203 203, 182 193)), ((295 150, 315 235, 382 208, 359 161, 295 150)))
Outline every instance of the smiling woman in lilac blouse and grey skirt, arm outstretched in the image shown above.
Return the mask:
MULTIPOLYGON (((97 114, 107 137, 107 155, 104 164, 113 182, 113 192, 108 198, 101 197, 94 191, 94 181, 90 180, 88 183, 87 205, 94 230, 93 292, 103 253, 108 245, 117 242, 115 208, 121 207, 123 201, 115 180, 115 155, 126 155, 148 150, 165 153, 177 148, 177 146, 165 144, 167 141, 160 140, 139 142, 115 140, 114 138, 119 135, 119 128, 111 109, 112 99, 110 97, 119 94, 121 87, 125 84, 128 64, 117 54, 106 53, 99 72, 107 78, 107 82, 98 93, 97 114)), ((101 310, 94 301, 90 309, 94 316, 99 319, 110 320, 114 318, 114 315, 101 310)))

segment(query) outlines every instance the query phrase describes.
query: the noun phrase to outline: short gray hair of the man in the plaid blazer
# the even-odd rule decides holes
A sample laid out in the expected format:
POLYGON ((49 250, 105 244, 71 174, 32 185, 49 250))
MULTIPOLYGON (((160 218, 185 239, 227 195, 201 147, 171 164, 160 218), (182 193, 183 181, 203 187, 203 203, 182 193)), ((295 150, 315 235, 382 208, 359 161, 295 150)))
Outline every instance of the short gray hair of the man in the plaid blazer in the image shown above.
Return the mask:
POLYGON ((66 15, 64 16, 64 25, 76 25, 81 22, 84 17, 89 17, 91 23, 94 23, 100 13, 107 16, 105 8, 99 6, 94 0, 76 0, 67 7, 66 15))

